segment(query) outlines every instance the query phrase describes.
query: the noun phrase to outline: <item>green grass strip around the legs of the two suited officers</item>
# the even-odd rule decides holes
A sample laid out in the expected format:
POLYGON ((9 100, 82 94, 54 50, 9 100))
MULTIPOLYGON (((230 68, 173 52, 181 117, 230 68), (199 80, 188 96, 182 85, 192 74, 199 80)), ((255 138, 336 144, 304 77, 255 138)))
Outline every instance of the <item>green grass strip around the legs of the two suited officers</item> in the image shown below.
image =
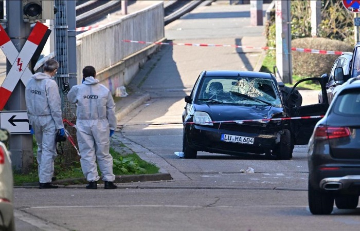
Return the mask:
MULTIPOLYGON (((38 163, 36 161, 37 145, 34 140, 33 143, 34 163, 27 174, 19 174, 18 172, 13 173, 14 185, 39 182, 38 163)), ((159 168, 156 165, 142 160, 135 152, 122 155, 113 148, 110 148, 110 154, 113 156, 114 160, 113 171, 115 175, 157 174, 159 172, 159 168), (119 164, 119 162, 121 162, 121 164, 119 164)), ((73 162, 72 166, 64 169, 61 168, 61 161, 61 156, 58 156, 55 160, 55 176, 57 180, 84 177, 80 162, 73 162)), ((99 169, 98 172, 100 173, 99 169)), ((101 176, 101 173, 99 176, 101 176)))

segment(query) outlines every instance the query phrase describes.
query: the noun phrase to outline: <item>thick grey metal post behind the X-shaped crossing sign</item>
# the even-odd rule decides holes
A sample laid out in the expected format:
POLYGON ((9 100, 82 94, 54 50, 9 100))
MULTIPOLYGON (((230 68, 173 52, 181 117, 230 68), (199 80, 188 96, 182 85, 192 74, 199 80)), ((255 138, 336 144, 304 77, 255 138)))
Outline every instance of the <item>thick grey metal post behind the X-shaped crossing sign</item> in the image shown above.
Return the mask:
MULTIPOLYGON (((7 33, 11 42, 20 52, 28 35, 30 34, 30 23, 23 21, 23 1, 6 1, 8 27, 7 33)), ((9 73, 12 63, 6 61, 6 70, 9 73)), ((5 105, 8 111, 26 111, 25 86, 19 81, 5 105)), ((32 136, 29 134, 14 134, 9 141, 11 161, 15 170, 27 172, 33 163, 32 136)))

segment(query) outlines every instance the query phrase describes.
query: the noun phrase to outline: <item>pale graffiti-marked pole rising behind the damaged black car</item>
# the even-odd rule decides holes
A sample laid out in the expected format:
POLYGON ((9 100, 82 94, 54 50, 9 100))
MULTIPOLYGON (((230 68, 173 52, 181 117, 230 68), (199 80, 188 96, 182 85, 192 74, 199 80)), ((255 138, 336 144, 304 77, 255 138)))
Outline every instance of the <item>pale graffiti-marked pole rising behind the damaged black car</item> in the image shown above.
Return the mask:
POLYGON ((276 67, 279 81, 292 84, 290 1, 275 1, 276 67))

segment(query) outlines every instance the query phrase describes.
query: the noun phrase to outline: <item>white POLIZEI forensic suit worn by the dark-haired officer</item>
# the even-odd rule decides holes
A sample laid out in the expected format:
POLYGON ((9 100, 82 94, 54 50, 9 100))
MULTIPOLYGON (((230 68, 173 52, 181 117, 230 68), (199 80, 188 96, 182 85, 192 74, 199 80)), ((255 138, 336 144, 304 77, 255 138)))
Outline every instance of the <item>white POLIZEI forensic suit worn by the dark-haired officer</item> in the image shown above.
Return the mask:
POLYGON ((98 181, 95 159, 103 181, 115 180, 113 157, 110 155, 110 130, 116 128, 115 103, 111 92, 99 80, 88 76, 67 94, 70 103, 77 103, 76 128, 80 163, 86 180, 98 181))

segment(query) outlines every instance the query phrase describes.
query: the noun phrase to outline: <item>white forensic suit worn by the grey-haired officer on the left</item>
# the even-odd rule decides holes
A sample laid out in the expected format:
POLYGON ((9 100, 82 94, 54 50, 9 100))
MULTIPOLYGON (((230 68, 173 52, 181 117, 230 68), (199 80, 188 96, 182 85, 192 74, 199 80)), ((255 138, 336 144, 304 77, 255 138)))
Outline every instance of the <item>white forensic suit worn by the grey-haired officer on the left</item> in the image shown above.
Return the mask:
POLYGON ((51 76, 35 73, 25 88, 29 124, 38 144, 39 182, 51 182, 57 157, 55 137, 64 128, 59 87, 51 76))

